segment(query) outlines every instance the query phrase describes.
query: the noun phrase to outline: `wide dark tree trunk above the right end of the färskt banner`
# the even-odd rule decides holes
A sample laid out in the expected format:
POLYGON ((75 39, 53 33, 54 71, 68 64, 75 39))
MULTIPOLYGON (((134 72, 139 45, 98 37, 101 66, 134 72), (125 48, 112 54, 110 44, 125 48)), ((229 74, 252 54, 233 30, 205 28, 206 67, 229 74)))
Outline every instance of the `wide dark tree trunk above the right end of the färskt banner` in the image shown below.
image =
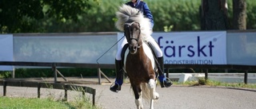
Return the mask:
POLYGON ((202 30, 229 29, 226 0, 202 0, 200 8, 202 30))

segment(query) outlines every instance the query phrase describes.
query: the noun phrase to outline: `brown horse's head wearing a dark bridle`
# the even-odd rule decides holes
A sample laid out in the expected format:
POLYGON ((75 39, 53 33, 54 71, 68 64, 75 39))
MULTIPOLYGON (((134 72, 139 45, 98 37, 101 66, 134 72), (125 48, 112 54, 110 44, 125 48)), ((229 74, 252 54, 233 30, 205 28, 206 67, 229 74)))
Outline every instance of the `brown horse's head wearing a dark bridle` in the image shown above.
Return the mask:
POLYGON ((135 54, 142 45, 141 29, 138 22, 125 23, 124 31, 131 54, 135 54))

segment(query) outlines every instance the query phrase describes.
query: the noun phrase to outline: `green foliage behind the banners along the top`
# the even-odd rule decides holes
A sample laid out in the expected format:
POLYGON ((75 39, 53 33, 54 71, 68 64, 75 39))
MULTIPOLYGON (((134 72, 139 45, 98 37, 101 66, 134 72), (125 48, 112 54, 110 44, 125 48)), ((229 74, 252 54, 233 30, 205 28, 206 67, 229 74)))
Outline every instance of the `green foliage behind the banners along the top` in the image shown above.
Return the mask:
MULTIPOLYGON (((128 0, 31 0, 0 2, 1 33, 110 32, 118 6, 128 0), (111 2, 112 1, 112 2, 111 2)), ((199 30, 201 1, 145 0, 154 16, 154 31, 199 30)), ((256 29, 256 3, 247 0, 247 29, 256 29)), ((228 1, 232 25, 232 1, 228 1)))

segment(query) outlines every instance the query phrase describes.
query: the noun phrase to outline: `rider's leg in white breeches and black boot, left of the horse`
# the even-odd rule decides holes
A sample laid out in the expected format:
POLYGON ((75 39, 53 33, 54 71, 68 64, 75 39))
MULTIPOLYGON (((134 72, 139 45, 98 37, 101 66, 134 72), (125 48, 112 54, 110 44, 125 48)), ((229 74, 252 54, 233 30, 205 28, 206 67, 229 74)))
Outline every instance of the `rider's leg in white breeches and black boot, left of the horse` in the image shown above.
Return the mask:
POLYGON ((114 86, 110 87, 110 91, 118 92, 121 90, 121 86, 123 83, 123 71, 122 71, 122 48, 126 45, 127 41, 126 38, 122 41, 122 44, 118 48, 118 52, 115 57, 115 72, 116 72, 116 79, 114 81, 114 86))

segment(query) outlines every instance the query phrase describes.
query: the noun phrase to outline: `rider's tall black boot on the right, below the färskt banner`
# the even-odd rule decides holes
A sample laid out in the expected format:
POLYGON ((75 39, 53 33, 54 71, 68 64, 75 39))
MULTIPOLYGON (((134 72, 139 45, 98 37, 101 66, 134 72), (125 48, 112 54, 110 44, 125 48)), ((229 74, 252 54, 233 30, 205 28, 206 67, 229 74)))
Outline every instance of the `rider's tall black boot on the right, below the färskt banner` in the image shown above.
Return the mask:
POLYGON ((160 70, 158 70, 158 73, 159 73, 159 76, 158 76, 158 80, 160 81, 160 85, 161 85, 161 88, 168 88, 170 87, 173 83, 170 81, 170 80, 166 80, 166 76, 164 76, 163 74, 163 71, 164 71, 164 68, 163 68, 163 57, 158 57, 158 63, 159 63, 159 67, 160 67, 160 70))

